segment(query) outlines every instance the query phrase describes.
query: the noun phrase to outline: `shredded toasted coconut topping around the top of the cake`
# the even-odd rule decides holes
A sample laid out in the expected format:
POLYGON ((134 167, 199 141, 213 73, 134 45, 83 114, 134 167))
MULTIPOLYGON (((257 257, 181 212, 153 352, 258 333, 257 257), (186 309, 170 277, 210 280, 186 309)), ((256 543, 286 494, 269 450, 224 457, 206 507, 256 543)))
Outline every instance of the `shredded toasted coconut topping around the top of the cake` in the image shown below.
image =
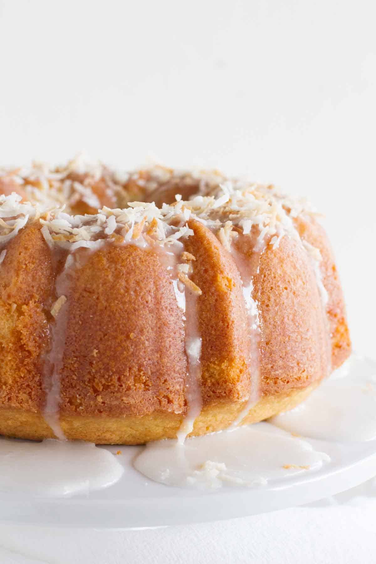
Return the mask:
MULTIPOLYGON (((120 174, 84 155, 65 167, 50 169, 34 163, 29 168, 0 169, 0 176, 12 178, 30 200, 21 201, 16 193, 0 196, 0 248, 32 221, 42 224, 43 237, 51 248, 98 248, 99 241, 105 240, 146 245, 149 239, 162 245, 182 246, 181 240, 193 235, 190 219, 215 231, 228 250, 238 232, 247 235, 254 226, 259 230, 259 247, 268 237, 269 244, 276 248, 284 235, 299 237, 293 218, 311 211, 303 202, 291 200, 272 186, 229 180, 218 171, 173 171, 154 165, 120 174), (161 208, 141 201, 165 186, 176 187, 176 191, 194 186, 196 195, 183 200, 177 194, 172 204, 162 204, 161 208), (103 205, 110 196, 115 204, 121 202, 123 206, 103 205), (82 202, 92 213, 74 213, 74 206, 81 209, 82 202)), ((183 261, 194 260, 188 254, 183 261)))

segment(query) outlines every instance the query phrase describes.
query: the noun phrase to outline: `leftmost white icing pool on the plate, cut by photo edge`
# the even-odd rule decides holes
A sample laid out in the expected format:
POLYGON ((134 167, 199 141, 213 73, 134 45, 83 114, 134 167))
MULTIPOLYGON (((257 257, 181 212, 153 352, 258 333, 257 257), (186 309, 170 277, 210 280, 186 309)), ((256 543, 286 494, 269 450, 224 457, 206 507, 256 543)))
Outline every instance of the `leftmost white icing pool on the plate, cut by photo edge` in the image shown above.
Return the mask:
POLYGON ((0 438, 0 490, 62 497, 111 486, 124 469, 92 443, 0 438))

